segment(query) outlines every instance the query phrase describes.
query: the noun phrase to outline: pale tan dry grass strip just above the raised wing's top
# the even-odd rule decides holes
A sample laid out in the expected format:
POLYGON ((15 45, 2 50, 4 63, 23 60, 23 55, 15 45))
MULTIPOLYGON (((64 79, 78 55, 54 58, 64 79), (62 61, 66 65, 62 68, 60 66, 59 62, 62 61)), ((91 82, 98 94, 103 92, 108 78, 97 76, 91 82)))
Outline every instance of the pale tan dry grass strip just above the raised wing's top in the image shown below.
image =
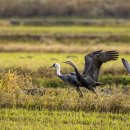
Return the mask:
POLYGON ((86 43, 83 45, 70 43, 59 44, 53 41, 46 41, 43 44, 28 44, 18 42, 0 44, 0 52, 47 52, 47 53, 89 53, 96 50, 116 50, 121 54, 130 54, 128 44, 102 44, 102 43, 86 43))

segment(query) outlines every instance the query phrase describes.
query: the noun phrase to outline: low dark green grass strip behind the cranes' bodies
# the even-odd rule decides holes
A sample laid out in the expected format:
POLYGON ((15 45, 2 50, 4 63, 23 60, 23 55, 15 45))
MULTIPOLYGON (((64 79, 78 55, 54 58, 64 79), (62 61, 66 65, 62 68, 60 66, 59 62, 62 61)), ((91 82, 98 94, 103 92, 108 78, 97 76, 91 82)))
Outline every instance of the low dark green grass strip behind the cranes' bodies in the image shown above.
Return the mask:
MULTIPOLYGON (((99 81, 103 83, 101 87, 104 87, 105 85, 113 85, 116 84, 122 85, 129 85, 130 84, 130 77, 125 76, 125 75, 118 75, 118 76, 113 76, 113 75, 103 75, 100 76, 99 81)), ((66 83, 64 83, 62 80, 59 78, 35 78, 33 79, 33 83, 37 84, 38 87, 47 87, 47 88, 64 88, 66 87, 66 83)))

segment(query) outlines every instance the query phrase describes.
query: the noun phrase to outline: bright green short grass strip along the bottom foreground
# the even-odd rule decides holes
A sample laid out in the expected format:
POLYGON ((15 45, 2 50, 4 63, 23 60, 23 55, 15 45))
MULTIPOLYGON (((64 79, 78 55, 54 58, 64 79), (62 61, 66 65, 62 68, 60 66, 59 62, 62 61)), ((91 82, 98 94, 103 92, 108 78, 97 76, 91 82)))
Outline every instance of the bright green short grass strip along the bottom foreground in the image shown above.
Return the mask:
POLYGON ((115 130, 130 129, 128 114, 2 109, 1 129, 15 130, 115 130), (34 118, 35 117, 35 118, 34 118))

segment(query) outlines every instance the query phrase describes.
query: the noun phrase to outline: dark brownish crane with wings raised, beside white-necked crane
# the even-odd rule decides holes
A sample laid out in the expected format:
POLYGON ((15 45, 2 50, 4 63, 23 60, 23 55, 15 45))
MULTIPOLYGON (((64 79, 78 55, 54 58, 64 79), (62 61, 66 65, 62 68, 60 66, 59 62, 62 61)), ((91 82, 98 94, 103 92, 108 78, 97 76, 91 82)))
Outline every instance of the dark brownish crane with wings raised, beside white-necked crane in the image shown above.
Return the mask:
POLYGON ((78 71, 72 61, 66 61, 64 63, 67 63, 74 68, 77 80, 79 81, 81 87, 85 87, 97 95, 95 88, 96 86, 102 84, 98 82, 99 71, 102 64, 111 60, 116 60, 118 56, 118 52, 116 51, 102 52, 102 50, 100 50, 92 52, 85 56, 85 66, 82 74, 78 71))

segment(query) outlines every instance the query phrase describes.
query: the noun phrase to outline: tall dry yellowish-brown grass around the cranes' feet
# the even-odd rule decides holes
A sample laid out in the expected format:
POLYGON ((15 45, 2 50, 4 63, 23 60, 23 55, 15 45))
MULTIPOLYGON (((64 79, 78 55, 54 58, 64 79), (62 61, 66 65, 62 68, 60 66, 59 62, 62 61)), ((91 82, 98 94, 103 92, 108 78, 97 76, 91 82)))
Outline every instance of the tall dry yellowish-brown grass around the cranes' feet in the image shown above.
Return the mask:
POLYGON ((130 112, 130 96, 120 88, 113 87, 108 89, 110 91, 109 94, 106 93, 107 88, 104 92, 97 90, 99 93, 98 98, 85 89, 82 89, 84 98, 79 98, 74 88, 43 88, 43 96, 29 93, 27 95, 24 93, 25 88, 34 88, 29 78, 28 76, 17 75, 16 72, 4 73, 0 82, 0 107, 130 112))

